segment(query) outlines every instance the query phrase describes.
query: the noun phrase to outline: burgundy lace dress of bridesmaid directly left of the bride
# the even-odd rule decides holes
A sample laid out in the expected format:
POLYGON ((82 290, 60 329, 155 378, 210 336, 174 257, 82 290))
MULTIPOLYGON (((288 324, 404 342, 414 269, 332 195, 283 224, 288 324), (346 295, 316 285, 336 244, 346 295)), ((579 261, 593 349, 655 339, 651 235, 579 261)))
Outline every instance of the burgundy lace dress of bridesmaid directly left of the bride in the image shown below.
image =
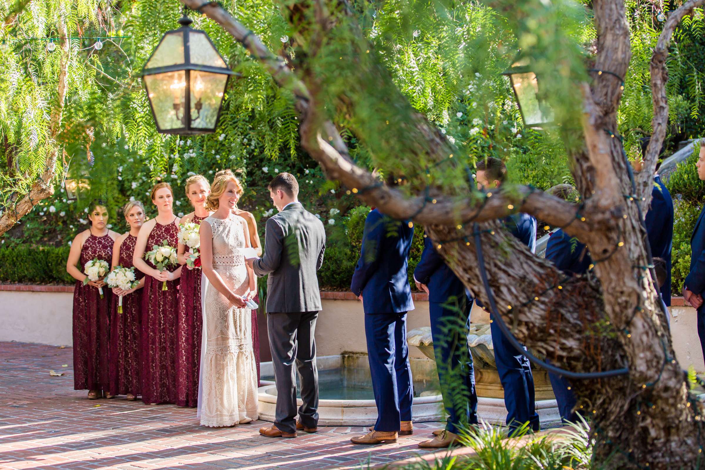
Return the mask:
MULTIPOLYGON (((200 225, 203 219, 194 214, 191 222, 200 225)), ((176 319, 176 404, 180 407, 198 404, 202 326, 201 268, 189 269, 184 265, 179 281, 176 319)))

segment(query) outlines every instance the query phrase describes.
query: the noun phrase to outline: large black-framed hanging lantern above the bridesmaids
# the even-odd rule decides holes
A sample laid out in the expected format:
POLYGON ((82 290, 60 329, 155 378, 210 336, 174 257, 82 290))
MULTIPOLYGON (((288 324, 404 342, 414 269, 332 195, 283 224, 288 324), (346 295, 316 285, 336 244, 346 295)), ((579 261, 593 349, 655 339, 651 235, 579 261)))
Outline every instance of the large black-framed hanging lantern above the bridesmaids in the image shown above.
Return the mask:
POLYGON ((209 134, 218 125, 230 75, 208 35, 188 16, 166 32, 142 70, 149 107, 163 134, 209 134))

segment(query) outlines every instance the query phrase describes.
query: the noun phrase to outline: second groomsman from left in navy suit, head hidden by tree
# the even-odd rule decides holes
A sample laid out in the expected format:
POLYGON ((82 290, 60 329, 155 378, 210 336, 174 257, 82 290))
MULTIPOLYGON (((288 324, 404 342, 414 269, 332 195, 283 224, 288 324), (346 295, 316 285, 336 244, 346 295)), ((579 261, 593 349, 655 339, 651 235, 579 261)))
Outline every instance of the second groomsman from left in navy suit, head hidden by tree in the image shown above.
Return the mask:
POLYGON ((429 295, 436 369, 448 413, 446 428, 434 431, 436 437, 419 443, 419 447, 444 448, 458 440, 460 429, 477 424, 475 375, 467 345, 472 297, 436 252, 431 237, 424 240, 424 252, 414 271, 414 280, 419 290, 429 295), (456 409, 461 400, 462 405, 456 409))

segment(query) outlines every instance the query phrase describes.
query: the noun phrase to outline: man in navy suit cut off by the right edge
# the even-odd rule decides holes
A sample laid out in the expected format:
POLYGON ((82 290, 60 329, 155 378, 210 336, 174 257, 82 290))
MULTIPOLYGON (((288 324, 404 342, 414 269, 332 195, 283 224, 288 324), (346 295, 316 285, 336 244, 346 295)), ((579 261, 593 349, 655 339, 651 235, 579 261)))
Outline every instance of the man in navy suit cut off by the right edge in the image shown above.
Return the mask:
MULTIPOLYGON (((705 140, 700 141, 700 158, 695 165, 698 169, 698 178, 705 181, 705 140)), ((683 297, 685 301, 697 309, 698 336, 700 347, 705 356, 705 222, 703 221, 705 206, 700 211, 698 221, 695 223, 693 235, 690 237, 690 272, 685 278, 683 297)))

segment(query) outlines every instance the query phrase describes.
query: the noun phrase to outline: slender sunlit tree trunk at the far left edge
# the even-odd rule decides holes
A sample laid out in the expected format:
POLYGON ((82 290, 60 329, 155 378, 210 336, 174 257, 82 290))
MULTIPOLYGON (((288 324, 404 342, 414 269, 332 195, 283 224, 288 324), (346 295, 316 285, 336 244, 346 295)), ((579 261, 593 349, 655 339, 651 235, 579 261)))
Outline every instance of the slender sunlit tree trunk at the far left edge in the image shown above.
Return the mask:
MULTIPOLYGON (((18 2, 15 11, 6 18, 6 25, 12 23, 14 18, 25 6, 27 1, 18 2), (9 23, 8 23, 9 22, 9 23)), ((49 140, 56 141, 56 136, 61 130, 61 115, 63 113, 63 104, 66 101, 66 87, 68 85, 68 52, 69 42, 68 30, 66 23, 63 21, 59 27, 59 47, 61 50, 61 58, 59 59, 59 85, 56 90, 56 101, 54 108, 51 110, 49 117, 49 140)), ((47 154, 44 160, 44 172, 37 177, 35 183, 32 183, 30 190, 15 203, 5 207, 4 212, 0 215, 0 235, 10 230, 20 218, 25 216, 34 206, 42 199, 46 199, 54 194, 54 178, 56 177, 56 164, 59 158, 59 146, 54 144, 54 147, 47 154)))

